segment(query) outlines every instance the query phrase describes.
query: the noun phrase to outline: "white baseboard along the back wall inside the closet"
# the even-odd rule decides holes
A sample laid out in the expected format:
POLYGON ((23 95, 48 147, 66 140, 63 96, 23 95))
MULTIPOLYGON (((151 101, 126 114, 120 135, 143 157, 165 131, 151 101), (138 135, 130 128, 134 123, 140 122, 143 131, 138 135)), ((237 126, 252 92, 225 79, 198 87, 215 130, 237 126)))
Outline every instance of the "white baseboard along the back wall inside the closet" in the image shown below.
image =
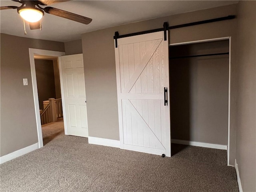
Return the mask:
POLYGON ((195 141, 185 141, 185 140, 178 140, 178 139, 172 139, 171 142, 176 143, 176 144, 182 144, 182 145, 191 145, 191 146, 198 146, 198 147, 207 147, 207 148, 227 150, 226 145, 195 142, 195 141))

